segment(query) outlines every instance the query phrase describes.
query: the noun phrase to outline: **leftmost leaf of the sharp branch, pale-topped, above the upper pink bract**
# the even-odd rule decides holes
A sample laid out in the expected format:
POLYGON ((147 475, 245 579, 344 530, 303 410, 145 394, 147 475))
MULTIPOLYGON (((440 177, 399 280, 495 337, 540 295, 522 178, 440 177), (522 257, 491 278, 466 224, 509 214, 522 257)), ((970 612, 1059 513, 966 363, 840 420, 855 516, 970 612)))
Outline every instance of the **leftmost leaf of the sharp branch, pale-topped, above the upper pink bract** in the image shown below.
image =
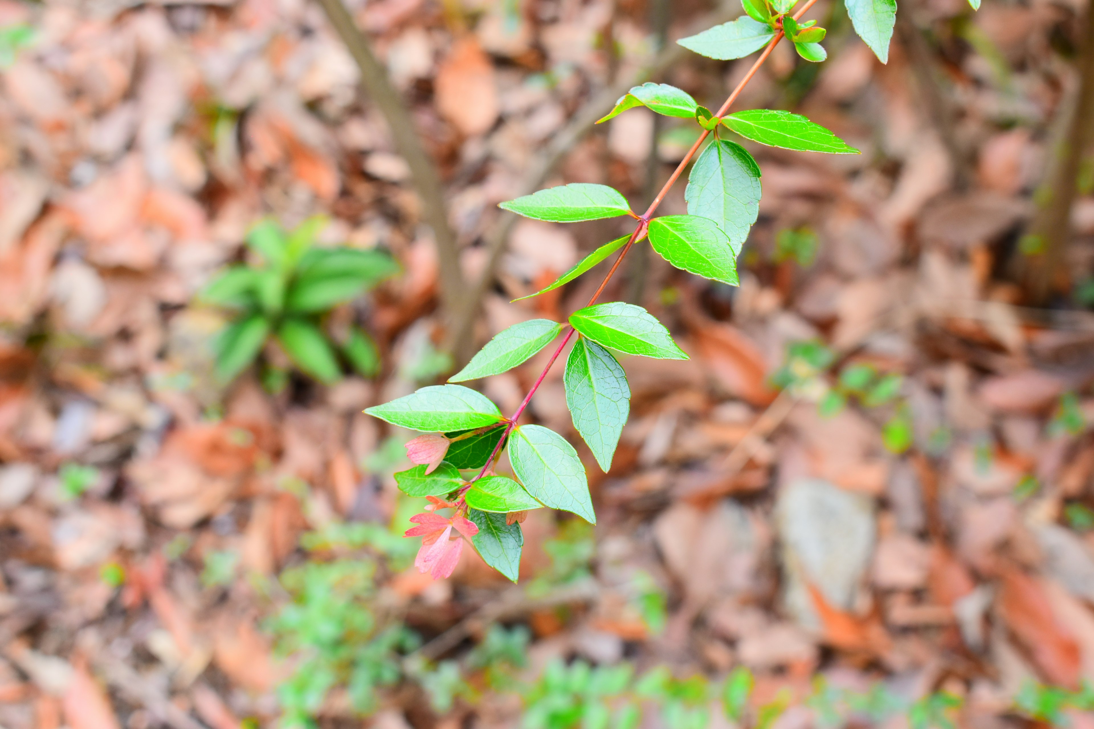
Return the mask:
POLYGON ((392 425, 428 433, 469 431, 502 421, 498 405, 462 385, 431 385, 364 412, 392 425))

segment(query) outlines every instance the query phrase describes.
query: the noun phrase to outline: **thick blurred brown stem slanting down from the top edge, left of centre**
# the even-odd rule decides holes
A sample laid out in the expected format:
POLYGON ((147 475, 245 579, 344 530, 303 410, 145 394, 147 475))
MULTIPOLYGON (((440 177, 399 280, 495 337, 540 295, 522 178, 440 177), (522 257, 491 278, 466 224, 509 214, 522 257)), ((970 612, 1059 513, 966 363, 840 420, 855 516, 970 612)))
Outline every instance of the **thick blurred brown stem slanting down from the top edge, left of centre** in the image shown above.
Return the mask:
POLYGON ((353 16, 342 4, 342 0, 317 2, 357 62, 361 71, 361 86, 387 120, 395 149, 410 167, 410 176, 421 198, 422 215, 433 230, 440 267, 441 302, 451 320, 456 313, 463 310, 462 299, 465 297, 466 284, 459 268, 456 234, 449 224, 441 175, 421 145, 414 119, 387 79, 387 69, 372 52, 369 39, 353 22, 353 16))

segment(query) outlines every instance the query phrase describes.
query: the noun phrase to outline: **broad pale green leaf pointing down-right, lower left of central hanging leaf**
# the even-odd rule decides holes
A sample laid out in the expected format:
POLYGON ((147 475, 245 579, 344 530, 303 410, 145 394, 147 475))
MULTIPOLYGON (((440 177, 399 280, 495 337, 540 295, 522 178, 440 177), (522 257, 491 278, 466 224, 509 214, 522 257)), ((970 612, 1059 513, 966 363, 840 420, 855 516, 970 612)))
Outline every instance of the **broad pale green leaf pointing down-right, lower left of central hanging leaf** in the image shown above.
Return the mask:
POLYGON ((561 435, 542 425, 522 425, 510 438, 509 460, 527 492, 545 506, 596 524, 585 467, 561 435))

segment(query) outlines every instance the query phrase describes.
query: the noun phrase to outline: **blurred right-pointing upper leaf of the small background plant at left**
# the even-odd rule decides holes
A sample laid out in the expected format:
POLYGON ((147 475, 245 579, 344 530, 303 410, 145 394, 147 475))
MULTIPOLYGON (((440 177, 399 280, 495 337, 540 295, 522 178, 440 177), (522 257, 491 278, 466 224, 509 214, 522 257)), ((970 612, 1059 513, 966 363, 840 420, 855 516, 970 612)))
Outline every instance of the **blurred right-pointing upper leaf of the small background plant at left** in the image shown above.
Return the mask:
POLYGON ((289 285, 286 308, 300 313, 324 311, 398 271, 398 263, 380 250, 315 248, 301 260, 300 271, 289 285))

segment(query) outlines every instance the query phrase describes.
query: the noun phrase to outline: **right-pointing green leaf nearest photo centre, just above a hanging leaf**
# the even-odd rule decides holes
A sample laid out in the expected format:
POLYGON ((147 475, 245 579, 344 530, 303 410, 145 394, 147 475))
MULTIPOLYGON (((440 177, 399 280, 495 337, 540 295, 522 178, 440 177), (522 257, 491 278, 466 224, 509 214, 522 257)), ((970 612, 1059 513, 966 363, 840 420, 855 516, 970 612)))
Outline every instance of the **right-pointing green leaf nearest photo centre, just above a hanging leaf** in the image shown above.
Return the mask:
POLYGON ((571 314, 570 324, 594 342, 626 354, 657 360, 688 358, 668 330, 641 306, 622 302, 596 304, 571 314))

